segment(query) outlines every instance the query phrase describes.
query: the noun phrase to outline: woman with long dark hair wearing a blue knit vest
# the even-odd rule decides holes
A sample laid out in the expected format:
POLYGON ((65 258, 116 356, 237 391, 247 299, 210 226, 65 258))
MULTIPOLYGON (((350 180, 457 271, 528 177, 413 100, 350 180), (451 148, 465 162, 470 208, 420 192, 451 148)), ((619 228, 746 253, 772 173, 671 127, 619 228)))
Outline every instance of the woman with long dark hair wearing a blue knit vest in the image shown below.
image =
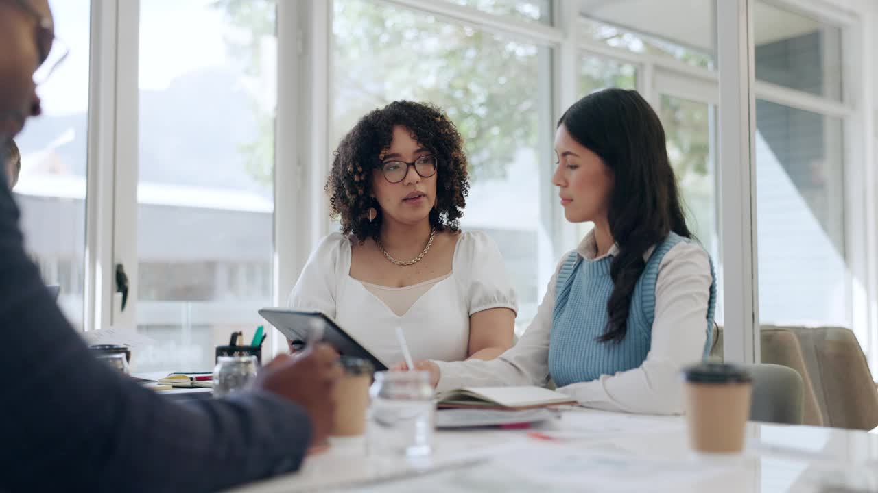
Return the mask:
POLYGON ((440 390, 551 379, 588 407, 679 413, 680 368, 713 339, 716 276, 659 117, 636 91, 602 90, 565 111, 555 152, 565 218, 594 229, 558 262, 533 323, 496 360, 416 366, 440 390))

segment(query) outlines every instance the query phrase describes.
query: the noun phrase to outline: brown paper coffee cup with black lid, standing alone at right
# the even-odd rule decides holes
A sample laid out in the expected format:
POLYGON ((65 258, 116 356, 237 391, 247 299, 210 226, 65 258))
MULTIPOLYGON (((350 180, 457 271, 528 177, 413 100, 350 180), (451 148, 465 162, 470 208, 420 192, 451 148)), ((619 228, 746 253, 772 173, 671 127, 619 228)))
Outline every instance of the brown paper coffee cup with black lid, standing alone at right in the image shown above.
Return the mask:
POLYGON ((683 369, 689 443, 698 452, 734 454, 744 449, 752 377, 745 368, 699 363, 683 369))

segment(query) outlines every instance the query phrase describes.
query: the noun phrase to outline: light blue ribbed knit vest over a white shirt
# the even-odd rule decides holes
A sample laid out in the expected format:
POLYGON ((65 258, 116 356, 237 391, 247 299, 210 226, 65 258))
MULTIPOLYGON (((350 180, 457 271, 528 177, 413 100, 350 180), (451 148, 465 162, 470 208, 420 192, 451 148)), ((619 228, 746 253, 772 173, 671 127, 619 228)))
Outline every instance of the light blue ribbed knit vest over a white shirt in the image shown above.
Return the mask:
MULTIPOLYGON (((558 387, 591 382, 601 375, 614 375, 643 364, 652 339, 659 265, 680 241, 690 240, 672 232, 653 250, 631 296, 628 330, 617 343, 597 340, 606 331, 609 320, 607 302, 614 287, 609 274, 613 257, 589 261, 576 252, 567 257, 558 271, 549 344, 549 373, 558 387)), ((704 356, 713 344, 716 308, 713 261, 710 261, 710 275, 713 282, 705 320, 708 337, 704 356)))

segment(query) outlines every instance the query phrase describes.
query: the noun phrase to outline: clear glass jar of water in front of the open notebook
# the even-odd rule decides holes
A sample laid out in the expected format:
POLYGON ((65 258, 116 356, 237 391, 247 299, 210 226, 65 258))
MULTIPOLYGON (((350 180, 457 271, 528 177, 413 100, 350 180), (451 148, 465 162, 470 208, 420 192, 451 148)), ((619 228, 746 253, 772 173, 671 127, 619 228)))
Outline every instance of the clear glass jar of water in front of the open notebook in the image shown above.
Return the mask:
POLYGON ((376 373, 369 394, 366 433, 370 453, 430 454, 435 400, 428 372, 376 373))

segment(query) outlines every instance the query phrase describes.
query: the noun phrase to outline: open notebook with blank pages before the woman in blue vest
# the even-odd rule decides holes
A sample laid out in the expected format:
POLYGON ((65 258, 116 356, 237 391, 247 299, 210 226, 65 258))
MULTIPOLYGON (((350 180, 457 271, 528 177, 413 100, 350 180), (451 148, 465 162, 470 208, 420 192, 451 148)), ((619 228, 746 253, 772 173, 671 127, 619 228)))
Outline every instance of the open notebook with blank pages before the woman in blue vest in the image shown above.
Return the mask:
POLYGON ((576 399, 543 387, 464 387, 436 395, 440 408, 522 410, 576 404, 576 399))

